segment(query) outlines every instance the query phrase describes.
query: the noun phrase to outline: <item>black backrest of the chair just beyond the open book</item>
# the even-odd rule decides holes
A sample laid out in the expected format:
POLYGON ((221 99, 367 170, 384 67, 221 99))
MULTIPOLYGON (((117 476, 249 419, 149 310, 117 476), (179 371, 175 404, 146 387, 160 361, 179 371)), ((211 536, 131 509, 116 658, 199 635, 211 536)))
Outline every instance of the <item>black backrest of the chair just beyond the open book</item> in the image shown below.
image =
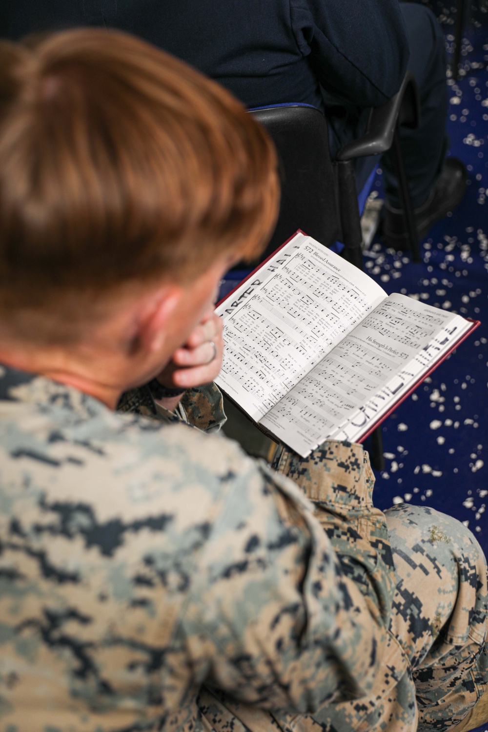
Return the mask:
POLYGON ((326 118, 310 105, 249 111, 274 141, 282 179, 277 227, 266 255, 299 228, 331 246, 339 238, 340 226, 326 118))

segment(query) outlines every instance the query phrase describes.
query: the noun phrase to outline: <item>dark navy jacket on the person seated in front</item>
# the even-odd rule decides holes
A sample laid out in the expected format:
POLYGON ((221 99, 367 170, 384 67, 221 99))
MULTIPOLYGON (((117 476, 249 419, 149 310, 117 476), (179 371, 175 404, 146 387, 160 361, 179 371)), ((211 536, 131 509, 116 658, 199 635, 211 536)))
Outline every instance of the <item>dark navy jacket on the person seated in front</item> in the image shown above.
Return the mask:
POLYGON ((379 106, 399 89, 409 56, 398 0, 2 0, 0 6, 4 37, 119 28, 192 64, 249 107, 379 106))

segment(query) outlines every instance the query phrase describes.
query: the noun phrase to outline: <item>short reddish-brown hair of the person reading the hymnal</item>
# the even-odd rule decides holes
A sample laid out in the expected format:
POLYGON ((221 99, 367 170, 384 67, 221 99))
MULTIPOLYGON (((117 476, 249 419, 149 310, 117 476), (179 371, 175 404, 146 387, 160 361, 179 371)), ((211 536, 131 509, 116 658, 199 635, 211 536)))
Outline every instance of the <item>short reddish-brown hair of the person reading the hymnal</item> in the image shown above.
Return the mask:
POLYGON ((277 198, 266 134, 181 61, 102 29, 0 43, 0 326, 67 340, 120 285, 255 255, 277 198))

